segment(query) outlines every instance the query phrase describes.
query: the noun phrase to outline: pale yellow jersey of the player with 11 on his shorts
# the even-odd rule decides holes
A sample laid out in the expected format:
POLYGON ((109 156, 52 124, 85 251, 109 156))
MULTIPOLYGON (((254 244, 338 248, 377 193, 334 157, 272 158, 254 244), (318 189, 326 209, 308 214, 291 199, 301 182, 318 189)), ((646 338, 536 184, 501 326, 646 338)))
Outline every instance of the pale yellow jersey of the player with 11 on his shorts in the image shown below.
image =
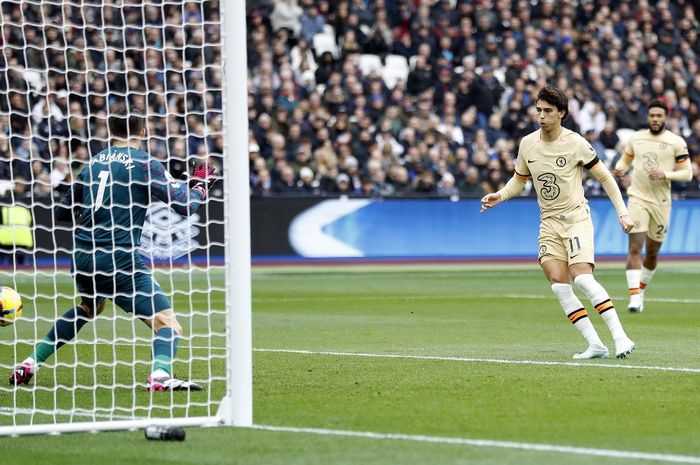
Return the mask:
POLYGON ((599 162, 595 150, 580 134, 562 128, 553 142, 545 142, 537 130, 520 141, 516 175, 532 176, 540 217, 569 213, 588 203, 583 195, 583 167, 599 162))

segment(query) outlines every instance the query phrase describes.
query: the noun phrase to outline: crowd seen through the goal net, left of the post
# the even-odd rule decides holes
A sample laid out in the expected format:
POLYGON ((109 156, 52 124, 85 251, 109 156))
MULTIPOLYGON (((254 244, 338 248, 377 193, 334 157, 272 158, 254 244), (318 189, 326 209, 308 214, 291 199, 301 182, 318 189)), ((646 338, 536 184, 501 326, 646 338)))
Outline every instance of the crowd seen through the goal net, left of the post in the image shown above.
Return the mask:
POLYGON ((0 14, 0 190, 62 195, 125 102, 174 176, 194 157, 220 163, 217 0, 10 0, 0 14))

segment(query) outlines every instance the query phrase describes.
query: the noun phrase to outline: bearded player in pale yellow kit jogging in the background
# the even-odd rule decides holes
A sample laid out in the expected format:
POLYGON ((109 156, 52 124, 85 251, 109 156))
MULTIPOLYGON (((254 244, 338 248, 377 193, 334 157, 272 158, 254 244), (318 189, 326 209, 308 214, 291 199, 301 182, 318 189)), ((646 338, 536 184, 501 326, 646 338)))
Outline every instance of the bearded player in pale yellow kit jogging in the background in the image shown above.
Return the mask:
POLYGON ((627 310, 644 310, 644 290, 656 271, 659 250, 671 219, 671 181, 690 181, 693 169, 682 137, 665 129, 668 109, 661 101, 648 106, 648 128, 635 132, 614 173, 622 177, 632 168, 627 206, 634 229, 627 254, 627 310), (646 245, 644 262, 642 248, 646 245))

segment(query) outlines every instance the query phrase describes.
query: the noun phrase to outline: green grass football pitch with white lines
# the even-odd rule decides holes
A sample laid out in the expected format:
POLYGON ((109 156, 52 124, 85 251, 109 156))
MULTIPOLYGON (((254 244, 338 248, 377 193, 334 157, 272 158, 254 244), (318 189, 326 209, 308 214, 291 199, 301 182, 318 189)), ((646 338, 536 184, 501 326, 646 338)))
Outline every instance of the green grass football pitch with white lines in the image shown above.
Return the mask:
MULTIPOLYGON (((585 342, 533 264, 256 268, 253 428, 187 428, 182 443, 146 441, 142 431, 6 437, 0 463, 700 464, 699 275, 699 263, 662 261, 644 312, 628 314, 622 263, 602 264, 596 276, 637 350, 624 360, 574 362, 585 342)), ((157 273, 166 291, 189 289, 174 298, 185 330, 199 333, 213 322, 221 333, 222 314, 205 321, 184 309, 223 309, 222 272, 173 276, 157 273), (206 292, 211 286, 217 290, 206 292)), ((23 295, 55 294, 43 278, 36 284, 22 278, 17 287, 23 295)), ((68 276, 56 287, 65 295, 72 289, 68 276)), ((614 351, 602 319, 577 294, 614 351)), ((48 318, 51 300, 25 300, 25 317, 48 318)), ((64 297, 56 305, 67 309, 71 302, 64 297)), ((113 314, 123 318, 99 319, 80 340, 99 341, 102 331, 113 331, 122 338, 118 344, 59 352, 66 362, 105 362, 97 373, 82 365, 47 368, 37 385, 143 382, 150 336, 120 310, 105 311, 113 314), (134 365, 135 359, 144 363, 134 365)), ((41 337, 50 324, 38 326, 41 337)), ((29 348, 13 338, 33 334, 23 321, 0 328, 0 363, 23 358, 29 348)), ((223 347, 223 334, 188 340, 181 353, 194 362, 176 370, 192 378, 223 376, 223 347)), ((7 374, 0 373, 1 382, 7 374)), ((170 396, 181 396, 193 405, 190 415, 214 413, 224 383, 208 383, 203 393, 167 393, 150 404, 145 389, 124 391, 78 390, 77 400, 58 406, 68 415, 81 402, 150 405, 162 416, 170 396)), ((56 402, 48 389, 33 401, 30 393, 0 391, 0 424, 9 423, 8 408, 26 420, 32 409, 56 402)))

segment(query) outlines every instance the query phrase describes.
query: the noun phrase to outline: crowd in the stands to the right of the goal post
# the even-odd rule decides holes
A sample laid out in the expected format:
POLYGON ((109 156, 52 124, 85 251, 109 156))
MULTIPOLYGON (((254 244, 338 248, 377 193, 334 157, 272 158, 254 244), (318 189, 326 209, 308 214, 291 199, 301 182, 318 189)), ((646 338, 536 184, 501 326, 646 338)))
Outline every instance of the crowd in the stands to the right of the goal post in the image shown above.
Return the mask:
MULTIPOLYGON (((689 0, 263 0, 248 18, 254 195, 481 196, 538 128, 534 96, 610 165, 646 105, 695 155, 700 40, 689 0), (621 131, 620 131, 621 130, 621 131)), ((586 179, 588 194, 600 186, 586 179)), ((622 181, 623 187, 628 183, 622 181)), ((533 193, 530 193, 534 195, 533 193)))

